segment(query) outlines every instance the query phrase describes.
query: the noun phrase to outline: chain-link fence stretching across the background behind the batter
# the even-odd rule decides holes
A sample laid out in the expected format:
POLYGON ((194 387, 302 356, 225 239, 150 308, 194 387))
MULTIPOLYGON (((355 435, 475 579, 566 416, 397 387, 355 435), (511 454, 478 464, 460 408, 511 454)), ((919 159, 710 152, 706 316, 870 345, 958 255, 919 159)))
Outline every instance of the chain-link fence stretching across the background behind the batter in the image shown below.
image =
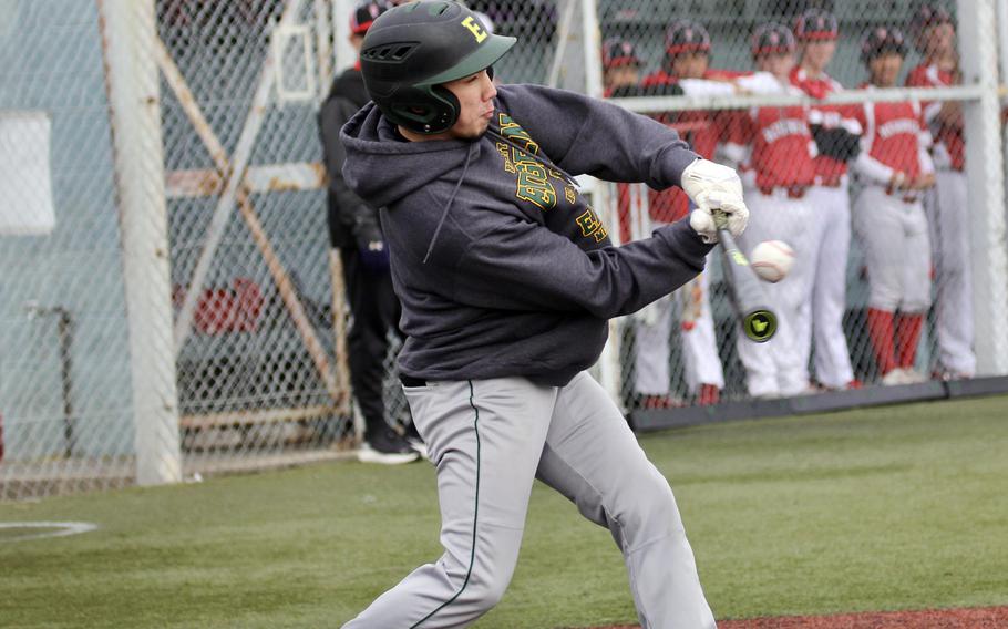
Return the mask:
MULTIPOLYGON (((326 237, 316 122, 332 76, 353 62, 353 4, 0 4, 0 497, 356 446, 342 341, 352 321, 326 237)), ((922 3, 911 0, 470 2, 518 38, 502 81, 607 94, 673 126, 745 174, 755 229, 743 249, 784 240, 794 251, 791 276, 769 287, 785 308, 783 347, 738 338, 716 256, 700 280, 615 322, 601 378, 628 409, 871 385, 896 370, 887 381, 1008 372, 1004 330, 968 329, 1004 318, 1008 289, 1004 187, 989 172, 1002 148, 984 144, 997 106, 996 68, 984 63, 998 48, 994 28, 971 21, 997 20, 992 1, 959 4, 968 16, 946 1, 928 6, 947 21, 914 22, 922 3), (799 70, 774 65, 788 63, 810 8, 827 19, 806 16, 799 70), (768 22, 780 28, 753 40, 768 22), (958 52, 938 60, 925 47, 949 37, 946 22, 958 52), (934 99, 884 78, 856 90, 872 80, 865 38, 875 33, 868 56, 891 56, 894 28, 905 54, 891 82, 938 85, 934 99), (957 40, 957 29, 975 37, 957 40), (907 131, 914 100, 919 133, 907 131), (970 162, 975 149, 984 158, 970 162), (966 207, 984 219, 947 212, 966 207), (897 240, 906 252, 887 248, 897 240), (886 283, 893 256, 915 270, 886 283), (970 271, 995 282, 989 300, 961 293, 970 271)), ((681 194, 640 185, 596 195, 620 240, 689 210, 681 194)), ((390 346, 383 392, 402 423, 390 346)))

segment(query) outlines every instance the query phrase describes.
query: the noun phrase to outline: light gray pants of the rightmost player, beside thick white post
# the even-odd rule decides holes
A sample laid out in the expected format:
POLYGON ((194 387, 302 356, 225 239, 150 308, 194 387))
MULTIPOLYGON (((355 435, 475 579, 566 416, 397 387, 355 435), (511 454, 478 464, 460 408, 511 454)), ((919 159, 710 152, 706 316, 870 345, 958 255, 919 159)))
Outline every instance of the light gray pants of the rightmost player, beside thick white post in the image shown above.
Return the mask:
POLYGON ((966 175, 938 171, 933 203, 937 269, 937 338, 942 367, 957 375, 976 372, 973 333, 973 272, 966 175))

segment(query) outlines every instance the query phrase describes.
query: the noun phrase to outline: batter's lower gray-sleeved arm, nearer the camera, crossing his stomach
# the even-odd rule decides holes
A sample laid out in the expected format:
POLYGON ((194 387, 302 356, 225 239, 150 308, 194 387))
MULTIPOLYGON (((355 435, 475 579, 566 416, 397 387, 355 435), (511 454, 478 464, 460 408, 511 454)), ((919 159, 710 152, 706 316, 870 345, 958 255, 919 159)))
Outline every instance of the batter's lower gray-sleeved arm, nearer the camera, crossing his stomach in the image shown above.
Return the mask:
POLYGON ((585 251, 515 218, 469 246, 453 269, 451 297, 482 308, 609 319, 636 312, 696 277, 710 249, 685 220, 650 238, 585 251))

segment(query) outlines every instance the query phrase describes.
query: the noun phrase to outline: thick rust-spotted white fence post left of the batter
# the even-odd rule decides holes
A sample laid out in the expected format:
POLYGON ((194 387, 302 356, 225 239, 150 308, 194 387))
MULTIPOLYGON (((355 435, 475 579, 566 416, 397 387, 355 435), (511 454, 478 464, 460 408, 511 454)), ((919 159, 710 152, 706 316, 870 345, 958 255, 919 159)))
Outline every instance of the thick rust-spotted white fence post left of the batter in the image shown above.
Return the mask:
POLYGON ((136 482, 182 480, 154 0, 99 0, 133 381, 136 482))

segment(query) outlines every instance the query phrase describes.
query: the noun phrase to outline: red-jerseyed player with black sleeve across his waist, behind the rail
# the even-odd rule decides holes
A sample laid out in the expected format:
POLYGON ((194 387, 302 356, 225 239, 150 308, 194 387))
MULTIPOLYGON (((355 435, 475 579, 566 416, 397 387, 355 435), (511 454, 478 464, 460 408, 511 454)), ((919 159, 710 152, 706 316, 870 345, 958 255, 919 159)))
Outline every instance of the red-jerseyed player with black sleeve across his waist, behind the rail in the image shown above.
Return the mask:
MULTIPOLYGON (((800 62, 791 71, 791 83, 815 99, 843 90, 826 74, 836 52, 836 18, 821 9, 803 12, 794 25, 800 62)), ((826 389, 856 386, 851 354, 843 330, 846 306, 846 265, 851 247, 851 198, 847 192, 847 159, 856 154, 861 125, 851 107, 813 107, 810 112, 819 155, 815 185, 805 198, 814 208, 806 243, 814 251, 809 270, 811 317, 796 321, 802 364, 809 363, 815 337, 815 377, 826 389)))

